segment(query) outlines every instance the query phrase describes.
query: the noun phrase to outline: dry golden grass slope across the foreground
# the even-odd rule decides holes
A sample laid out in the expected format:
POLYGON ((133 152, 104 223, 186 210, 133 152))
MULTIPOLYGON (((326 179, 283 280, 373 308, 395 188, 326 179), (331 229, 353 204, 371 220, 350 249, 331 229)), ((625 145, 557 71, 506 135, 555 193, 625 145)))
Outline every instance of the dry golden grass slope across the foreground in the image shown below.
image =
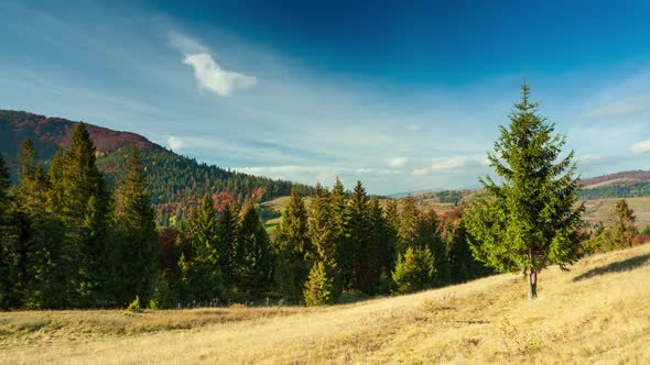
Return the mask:
POLYGON ((327 308, 0 313, 4 364, 650 363, 650 245, 327 308))

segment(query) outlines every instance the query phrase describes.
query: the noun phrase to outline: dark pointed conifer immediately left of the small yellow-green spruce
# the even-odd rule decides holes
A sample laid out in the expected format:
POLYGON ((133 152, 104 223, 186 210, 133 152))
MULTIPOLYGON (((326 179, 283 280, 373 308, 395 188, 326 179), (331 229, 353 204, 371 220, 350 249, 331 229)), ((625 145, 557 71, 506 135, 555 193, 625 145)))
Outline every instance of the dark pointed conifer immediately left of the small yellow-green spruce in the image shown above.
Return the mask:
POLYGON ((307 235, 307 211, 296 188, 291 190, 291 198, 278 224, 275 250, 278 290, 286 299, 300 301, 310 270, 308 261, 314 255, 307 235))

